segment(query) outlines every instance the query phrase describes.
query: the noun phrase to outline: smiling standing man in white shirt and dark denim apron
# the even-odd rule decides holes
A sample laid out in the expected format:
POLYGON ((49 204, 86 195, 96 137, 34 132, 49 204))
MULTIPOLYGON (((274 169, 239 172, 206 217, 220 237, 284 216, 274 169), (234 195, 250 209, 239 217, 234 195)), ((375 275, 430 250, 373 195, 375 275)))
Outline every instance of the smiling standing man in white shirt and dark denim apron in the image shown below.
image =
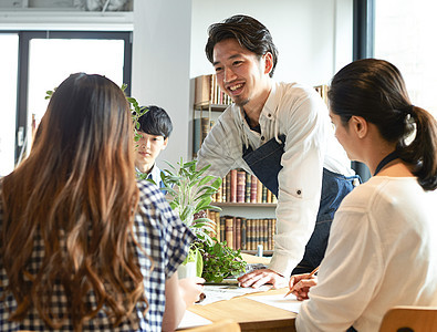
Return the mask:
POLYGON ((239 281, 243 287, 279 287, 290 273, 319 266, 333 215, 357 177, 314 89, 271 79, 278 51, 263 24, 247 15, 212 24, 206 53, 235 104, 206 137, 198 167, 211 164, 208 172, 221 177, 243 168, 277 195, 269 269, 239 281))

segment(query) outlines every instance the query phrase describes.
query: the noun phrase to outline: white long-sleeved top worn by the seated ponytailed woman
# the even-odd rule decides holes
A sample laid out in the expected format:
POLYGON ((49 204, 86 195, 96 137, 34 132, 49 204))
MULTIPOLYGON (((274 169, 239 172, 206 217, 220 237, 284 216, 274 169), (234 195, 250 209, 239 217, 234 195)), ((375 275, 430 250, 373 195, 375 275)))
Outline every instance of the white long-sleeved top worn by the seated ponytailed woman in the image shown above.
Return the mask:
POLYGON ((375 176, 342 201, 296 330, 379 330, 394 305, 437 305, 437 190, 375 176))

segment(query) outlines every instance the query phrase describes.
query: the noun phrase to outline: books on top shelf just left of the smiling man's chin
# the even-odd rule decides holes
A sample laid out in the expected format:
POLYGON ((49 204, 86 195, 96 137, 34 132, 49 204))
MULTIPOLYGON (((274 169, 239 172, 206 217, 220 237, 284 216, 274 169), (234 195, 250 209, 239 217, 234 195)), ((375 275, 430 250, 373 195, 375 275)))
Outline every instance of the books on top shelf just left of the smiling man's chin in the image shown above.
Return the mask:
POLYGON ((195 104, 230 105, 232 100, 217 84, 216 75, 201 75, 195 79, 195 104))

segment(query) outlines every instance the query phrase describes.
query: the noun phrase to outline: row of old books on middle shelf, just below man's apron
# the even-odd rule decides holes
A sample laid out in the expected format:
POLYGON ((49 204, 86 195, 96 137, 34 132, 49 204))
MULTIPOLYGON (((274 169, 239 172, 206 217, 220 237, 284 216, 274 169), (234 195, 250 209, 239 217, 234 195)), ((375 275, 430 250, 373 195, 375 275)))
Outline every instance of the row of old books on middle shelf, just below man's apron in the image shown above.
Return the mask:
POLYGON ((277 203, 277 197, 254 176, 243 169, 231 169, 212 196, 216 203, 277 203))

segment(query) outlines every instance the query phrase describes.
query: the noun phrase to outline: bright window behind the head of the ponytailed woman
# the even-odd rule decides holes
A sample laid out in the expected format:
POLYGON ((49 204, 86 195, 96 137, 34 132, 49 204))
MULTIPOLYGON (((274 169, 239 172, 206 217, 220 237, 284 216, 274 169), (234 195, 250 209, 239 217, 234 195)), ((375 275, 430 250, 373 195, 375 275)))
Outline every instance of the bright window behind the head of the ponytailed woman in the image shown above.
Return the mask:
POLYGON ((412 103, 437 117, 437 20, 428 0, 375 0, 374 58, 396 65, 412 103))

